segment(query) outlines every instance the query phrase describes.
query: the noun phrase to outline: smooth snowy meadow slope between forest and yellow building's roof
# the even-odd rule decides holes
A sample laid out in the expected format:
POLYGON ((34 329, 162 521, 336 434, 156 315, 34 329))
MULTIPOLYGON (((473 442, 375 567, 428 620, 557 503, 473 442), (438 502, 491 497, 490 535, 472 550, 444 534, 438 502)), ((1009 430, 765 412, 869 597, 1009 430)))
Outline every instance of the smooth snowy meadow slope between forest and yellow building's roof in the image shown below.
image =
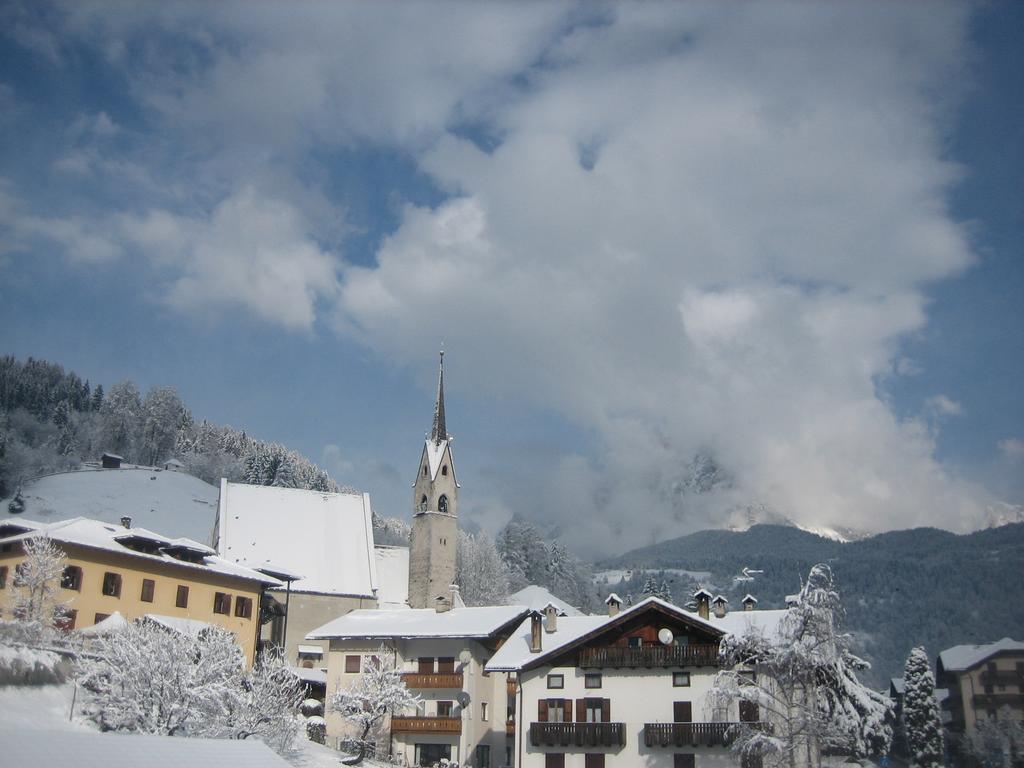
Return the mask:
POLYGON ((91 517, 132 525, 164 536, 186 537, 212 544, 218 490, 185 472, 153 467, 80 469, 31 480, 22 489, 25 511, 11 514, 9 499, 0 501, 0 520, 27 517, 55 522, 91 517))

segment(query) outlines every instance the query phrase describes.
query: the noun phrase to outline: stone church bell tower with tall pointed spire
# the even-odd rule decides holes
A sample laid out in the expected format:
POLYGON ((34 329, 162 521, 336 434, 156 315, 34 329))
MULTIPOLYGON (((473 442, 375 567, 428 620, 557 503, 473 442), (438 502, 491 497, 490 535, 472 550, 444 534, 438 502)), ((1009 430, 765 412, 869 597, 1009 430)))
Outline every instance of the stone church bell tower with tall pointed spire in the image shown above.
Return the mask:
POLYGON ((458 551, 459 482, 452 437, 444 423, 444 352, 437 372, 434 422, 424 440, 413 483, 413 534, 409 555, 409 604, 436 608, 451 599, 458 551))

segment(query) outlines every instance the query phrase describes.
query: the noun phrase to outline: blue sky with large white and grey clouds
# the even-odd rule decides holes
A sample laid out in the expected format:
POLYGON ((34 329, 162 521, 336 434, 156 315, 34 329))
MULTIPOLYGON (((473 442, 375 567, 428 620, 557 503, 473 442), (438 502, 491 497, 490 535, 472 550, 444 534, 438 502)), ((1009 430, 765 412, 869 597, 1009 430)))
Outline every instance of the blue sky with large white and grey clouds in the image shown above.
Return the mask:
POLYGON ((1024 503, 1018 3, 0 3, 0 353, 597 557, 1024 503), (697 493, 694 458, 720 481, 697 493))

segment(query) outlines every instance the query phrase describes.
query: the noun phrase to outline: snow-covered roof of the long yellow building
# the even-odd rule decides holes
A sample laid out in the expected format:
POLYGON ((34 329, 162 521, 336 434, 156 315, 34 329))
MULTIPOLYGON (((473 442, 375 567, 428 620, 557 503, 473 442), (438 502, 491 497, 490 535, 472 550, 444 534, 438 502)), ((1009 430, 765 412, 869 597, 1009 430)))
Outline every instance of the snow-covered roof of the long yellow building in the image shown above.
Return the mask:
POLYGON ((120 555, 127 555, 129 557, 138 557, 145 560, 159 561, 177 567, 189 568, 191 570, 214 572, 233 577, 236 579, 261 582, 271 586, 280 585, 276 580, 271 579, 270 577, 258 573, 252 568, 247 568, 243 565, 239 565, 238 563, 230 562, 229 560, 225 560, 224 558, 217 556, 209 547, 202 545, 199 542, 194 542, 190 539, 169 539, 168 537, 161 536, 160 534, 154 534, 152 530, 146 530, 145 528, 126 528, 123 525, 115 525, 102 522, 101 520, 90 520, 86 517, 73 517, 70 520, 61 520, 60 522, 51 523, 18 520, 18 524, 23 524, 25 527, 31 528, 31 530, 25 534, 17 534, 15 536, 0 539, 0 543, 6 544, 9 542, 18 542, 36 536, 37 534, 45 534, 54 542, 60 544, 88 547, 89 549, 103 550, 105 552, 114 552, 120 555), (148 542, 154 547, 158 547, 160 549, 153 554, 130 549, 125 546, 124 542, 132 539, 141 542, 148 542), (173 550, 176 547, 194 551, 199 558, 199 562, 179 560, 178 558, 167 554, 165 551, 167 549, 173 550))

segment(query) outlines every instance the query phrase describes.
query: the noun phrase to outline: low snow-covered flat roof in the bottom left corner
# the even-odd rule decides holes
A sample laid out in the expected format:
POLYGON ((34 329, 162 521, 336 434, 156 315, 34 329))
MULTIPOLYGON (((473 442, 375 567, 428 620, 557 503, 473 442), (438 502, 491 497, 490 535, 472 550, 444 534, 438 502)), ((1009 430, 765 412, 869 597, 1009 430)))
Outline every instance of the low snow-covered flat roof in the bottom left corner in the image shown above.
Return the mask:
MULTIPOLYGON (((2 726, 0 726, 2 728, 2 726)), ((179 738, 140 733, 99 733, 18 729, 4 738, 7 765, 74 765, 79 768, 289 768, 269 746, 254 738, 179 738)))

